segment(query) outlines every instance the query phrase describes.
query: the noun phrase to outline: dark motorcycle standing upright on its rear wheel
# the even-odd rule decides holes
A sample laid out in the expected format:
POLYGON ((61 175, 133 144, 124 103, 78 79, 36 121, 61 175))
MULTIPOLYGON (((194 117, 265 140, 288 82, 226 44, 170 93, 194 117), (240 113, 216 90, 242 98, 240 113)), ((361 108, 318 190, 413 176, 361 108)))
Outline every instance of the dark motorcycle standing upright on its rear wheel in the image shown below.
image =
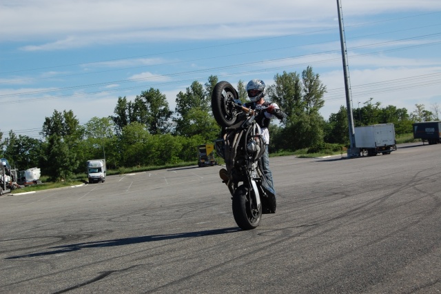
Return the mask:
POLYGON ((274 188, 267 181, 261 162, 265 139, 256 122, 256 116, 264 109, 243 106, 238 92, 227 81, 220 81, 212 92, 213 116, 222 127, 215 148, 226 166, 226 172, 220 170, 220 177, 232 195, 234 220, 243 230, 256 228, 263 214, 276 212, 274 188))

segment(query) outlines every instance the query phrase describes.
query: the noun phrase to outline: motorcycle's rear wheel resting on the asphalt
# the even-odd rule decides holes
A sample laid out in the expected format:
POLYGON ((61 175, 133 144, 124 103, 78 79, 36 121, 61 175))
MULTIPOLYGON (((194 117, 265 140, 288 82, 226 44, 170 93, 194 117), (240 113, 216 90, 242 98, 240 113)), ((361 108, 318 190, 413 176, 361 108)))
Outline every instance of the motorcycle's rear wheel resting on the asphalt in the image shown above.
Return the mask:
POLYGON ((262 206, 256 206, 249 188, 245 185, 234 191, 233 215, 236 224, 243 230, 251 230, 260 224, 262 206))

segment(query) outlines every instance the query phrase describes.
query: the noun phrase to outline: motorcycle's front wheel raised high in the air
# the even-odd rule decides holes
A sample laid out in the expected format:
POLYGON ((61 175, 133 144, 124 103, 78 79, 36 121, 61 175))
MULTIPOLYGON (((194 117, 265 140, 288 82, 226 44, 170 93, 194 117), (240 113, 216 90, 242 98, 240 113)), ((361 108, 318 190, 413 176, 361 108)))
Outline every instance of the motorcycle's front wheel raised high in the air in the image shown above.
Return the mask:
POLYGON ((234 100, 238 99, 236 89, 227 81, 220 81, 212 92, 212 111, 214 119, 223 128, 236 123, 238 110, 234 107, 234 100))

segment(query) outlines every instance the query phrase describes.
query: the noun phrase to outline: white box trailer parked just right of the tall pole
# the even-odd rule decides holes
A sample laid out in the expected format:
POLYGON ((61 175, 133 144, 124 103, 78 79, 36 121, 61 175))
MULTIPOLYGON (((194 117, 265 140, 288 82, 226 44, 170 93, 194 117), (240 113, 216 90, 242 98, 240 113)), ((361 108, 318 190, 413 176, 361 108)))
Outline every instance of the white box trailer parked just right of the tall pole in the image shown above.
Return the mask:
POLYGON ((393 124, 374 124, 355 128, 356 148, 367 156, 390 154, 397 149, 393 124))

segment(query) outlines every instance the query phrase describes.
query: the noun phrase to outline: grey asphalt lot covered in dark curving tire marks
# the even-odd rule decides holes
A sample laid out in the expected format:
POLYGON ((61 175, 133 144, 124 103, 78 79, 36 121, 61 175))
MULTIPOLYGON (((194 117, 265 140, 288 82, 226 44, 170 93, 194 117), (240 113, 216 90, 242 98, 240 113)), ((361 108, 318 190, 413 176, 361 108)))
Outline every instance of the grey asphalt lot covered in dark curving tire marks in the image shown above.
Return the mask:
POLYGON ((0 293, 440 293, 440 144, 270 166, 251 231, 221 166, 2 195, 0 293))

